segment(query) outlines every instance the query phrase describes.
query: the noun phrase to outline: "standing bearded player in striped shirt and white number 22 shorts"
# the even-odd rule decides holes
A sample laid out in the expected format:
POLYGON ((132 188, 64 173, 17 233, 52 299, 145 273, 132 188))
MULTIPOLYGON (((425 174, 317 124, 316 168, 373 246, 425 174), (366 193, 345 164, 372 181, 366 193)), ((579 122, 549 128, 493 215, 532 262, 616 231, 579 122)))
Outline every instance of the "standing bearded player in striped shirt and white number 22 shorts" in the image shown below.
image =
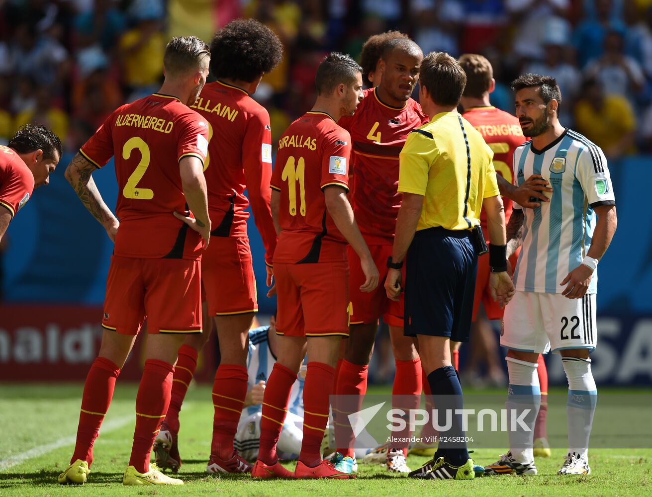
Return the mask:
MULTIPOLYGON (((561 354, 569 381, 569 453, 559 474, 589 474, 597 399, 589 359, 597 341, 596 268, 616 229, 614 190, 602 150, 559 123, 561 92, 554 78, 525 74, 512 89, 516 117, 532 138, 514 152, 514 175, 520 185, 541 174, 553 192, 550 202, 537 208, 514 204, 507 226, 508 257, 522 244, 514 271, 516 295, 505 309, 500 340, 509 348, 509 393, 532 397, 533 427, 537 355, 561 354)), ((529 440, 510 433, 511 450, 485 473, 537 474, 529 433, 529 440)))

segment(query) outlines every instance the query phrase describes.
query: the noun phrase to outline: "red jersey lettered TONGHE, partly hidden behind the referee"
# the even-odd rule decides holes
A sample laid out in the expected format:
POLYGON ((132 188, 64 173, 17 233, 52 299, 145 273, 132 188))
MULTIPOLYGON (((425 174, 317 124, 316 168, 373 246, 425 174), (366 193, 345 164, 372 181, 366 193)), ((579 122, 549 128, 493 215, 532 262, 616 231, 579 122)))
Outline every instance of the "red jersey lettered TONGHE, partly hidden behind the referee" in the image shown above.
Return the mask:
MULTIPOLYGON (((464 119, 473 124, 473 127, 480 132, 489 148, 494 151, 494 167, 496 173, 501 175, 510 183, 514 183, 512 173, 512 158, 514 150, 522 145, 526 138, 521 130, 518 117, 511 115, 496 107, 473 107, 464 114, 464 119)), ((512 215, 512 201, 503 197, 505 206, 505 224, 512 215)), ((487 216, 484 210, 480 213, 480 225, 484 236, 489 237, 487 231, 487 216)))

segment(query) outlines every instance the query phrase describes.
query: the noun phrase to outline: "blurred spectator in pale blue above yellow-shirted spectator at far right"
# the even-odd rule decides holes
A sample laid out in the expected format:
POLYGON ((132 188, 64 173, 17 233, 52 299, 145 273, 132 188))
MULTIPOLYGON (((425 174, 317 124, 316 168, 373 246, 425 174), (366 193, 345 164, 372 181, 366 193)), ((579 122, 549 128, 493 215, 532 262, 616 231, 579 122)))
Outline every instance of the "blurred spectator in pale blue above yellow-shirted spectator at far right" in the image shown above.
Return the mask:
POLYGON ((641 66, 625 55, 623 35, 615 30, 606 34, 604 53, 586 66, 584 77, 599 79, 605 94, 625 97, 638 94, 645 84, 641 66))

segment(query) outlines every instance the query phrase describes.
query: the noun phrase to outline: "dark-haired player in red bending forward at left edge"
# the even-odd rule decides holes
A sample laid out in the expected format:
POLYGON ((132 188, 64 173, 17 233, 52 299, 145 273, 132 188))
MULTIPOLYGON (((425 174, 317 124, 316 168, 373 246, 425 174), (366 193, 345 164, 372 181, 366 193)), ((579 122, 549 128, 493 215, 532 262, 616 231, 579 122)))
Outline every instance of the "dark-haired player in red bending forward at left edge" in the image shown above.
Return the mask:
POLYGON ((48 184, 61 159, 61 140, 44 126, 25 124, 0 145, 0 240, 35 188, 48 184))

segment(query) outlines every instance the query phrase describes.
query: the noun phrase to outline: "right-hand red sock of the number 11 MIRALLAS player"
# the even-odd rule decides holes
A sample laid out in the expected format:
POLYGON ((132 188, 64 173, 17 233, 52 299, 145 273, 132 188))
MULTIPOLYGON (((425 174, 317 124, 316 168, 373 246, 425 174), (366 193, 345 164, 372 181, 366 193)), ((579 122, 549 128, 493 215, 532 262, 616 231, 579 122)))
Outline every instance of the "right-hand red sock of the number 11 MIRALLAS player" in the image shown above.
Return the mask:
POLYGON ((333 367, 321 362, 308 363, 303 384, 303 444, 299 461, 310 468, 321 463, 319 447, 328 423, 329 395, 333 393, 334 383, 333 367))

